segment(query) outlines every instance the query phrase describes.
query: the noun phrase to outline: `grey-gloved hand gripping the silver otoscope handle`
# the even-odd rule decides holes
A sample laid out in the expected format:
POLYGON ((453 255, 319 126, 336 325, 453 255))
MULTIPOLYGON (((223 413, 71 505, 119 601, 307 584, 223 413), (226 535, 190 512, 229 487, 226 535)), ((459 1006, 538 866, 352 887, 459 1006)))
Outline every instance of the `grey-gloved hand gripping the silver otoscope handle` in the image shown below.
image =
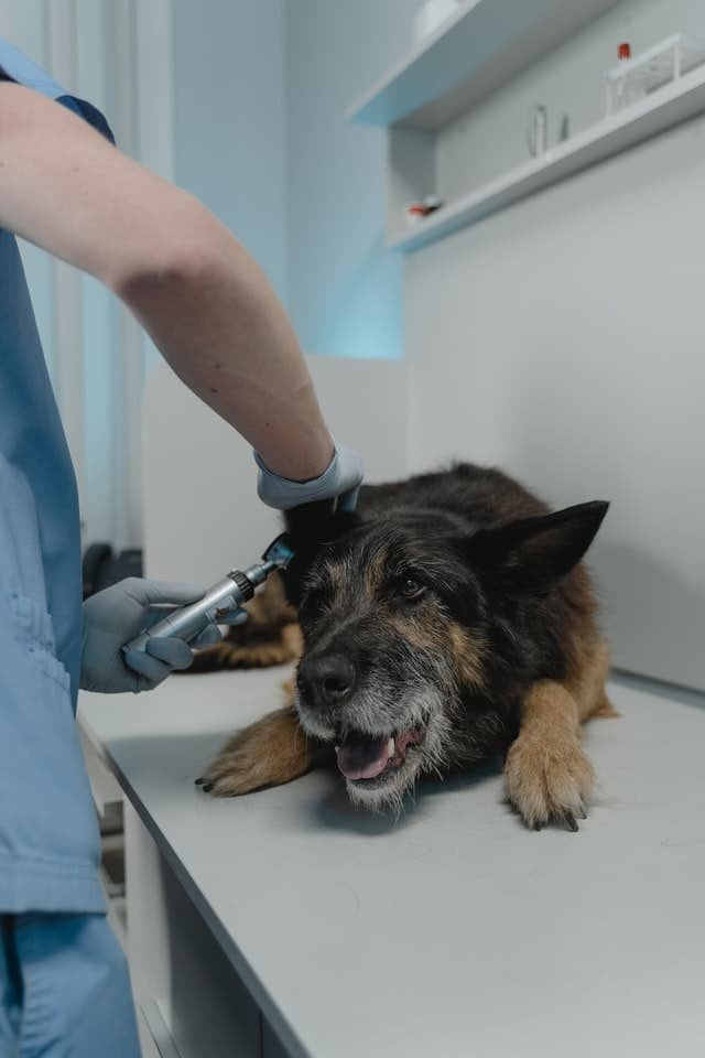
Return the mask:
MULTIPOLYGON (((204 595, 204 589, 186 584, 167 584, 130 576, 86 600, 80 685, 85 691, 106 694, 120 691, 152 690, 174 669, 187 669, 193 661, 193 647, 205 647, 220 640, 220 633, 208 626, 191 646, 182 639, 151 639, 147 652, 122 652, 122 647, 149 625, 160 620, 170 606, 186 606, 204 595), (161 606, 162 608, 156 608, 161 606)), ((230 618, 239 624, 247 617, 239 611, 230 618)))

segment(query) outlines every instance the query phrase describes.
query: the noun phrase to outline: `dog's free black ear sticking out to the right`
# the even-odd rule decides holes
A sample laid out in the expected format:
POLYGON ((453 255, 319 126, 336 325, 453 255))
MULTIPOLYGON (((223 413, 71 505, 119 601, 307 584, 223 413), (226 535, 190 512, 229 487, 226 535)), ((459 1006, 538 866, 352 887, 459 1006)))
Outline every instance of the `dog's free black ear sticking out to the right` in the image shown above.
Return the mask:
POLYGON ((552 515, 521 518, 470 538, 470 558, 509 589, 545 595, 589 548, 609 504, 594 500, 552 515))

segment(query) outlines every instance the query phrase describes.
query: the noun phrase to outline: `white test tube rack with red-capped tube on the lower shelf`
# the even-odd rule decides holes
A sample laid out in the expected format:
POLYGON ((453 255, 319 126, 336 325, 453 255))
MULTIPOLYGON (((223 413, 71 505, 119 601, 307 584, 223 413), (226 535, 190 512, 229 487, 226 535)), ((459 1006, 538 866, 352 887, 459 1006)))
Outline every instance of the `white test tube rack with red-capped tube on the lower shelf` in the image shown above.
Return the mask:
POLYGON ((673 33, 633 58, 621 58, 606 76, 607 115, 638 102, 703 62, 705 46, 682 33, 673 33))

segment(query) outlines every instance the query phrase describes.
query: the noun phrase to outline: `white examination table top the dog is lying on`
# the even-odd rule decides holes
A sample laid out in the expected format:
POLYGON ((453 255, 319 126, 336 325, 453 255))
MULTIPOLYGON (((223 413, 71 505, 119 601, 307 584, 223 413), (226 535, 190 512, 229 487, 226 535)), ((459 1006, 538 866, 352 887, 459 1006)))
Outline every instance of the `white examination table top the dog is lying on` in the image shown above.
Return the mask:
POLYGON ((285 674, 176 677, 80 713, 292 1054, 705 1052, 705 711, 612 684, 577 834, 524 830, 491 773, 424 785, 399 821, 321 773, 198 791, 285 674))

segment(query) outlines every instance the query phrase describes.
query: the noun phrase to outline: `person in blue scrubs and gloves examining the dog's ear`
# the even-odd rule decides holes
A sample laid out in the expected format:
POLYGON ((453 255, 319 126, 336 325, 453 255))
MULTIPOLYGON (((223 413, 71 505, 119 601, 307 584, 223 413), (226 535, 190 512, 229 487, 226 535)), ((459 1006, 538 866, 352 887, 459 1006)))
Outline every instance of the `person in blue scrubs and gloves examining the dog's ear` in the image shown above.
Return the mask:
POLYGON ((76 483, 14 235, 129 306, 252 444, 265 504, 354 495, 361 462, 336 449, 289 321, 243 248, 2 41, 0 229, 0 1055, 137 1058, 74 712, 79 685, 139 691, 187 667, 185 644, 150 645, 139 672, 121 646, 152 604, 203 591, 128 581, 82 614, 76 483))

